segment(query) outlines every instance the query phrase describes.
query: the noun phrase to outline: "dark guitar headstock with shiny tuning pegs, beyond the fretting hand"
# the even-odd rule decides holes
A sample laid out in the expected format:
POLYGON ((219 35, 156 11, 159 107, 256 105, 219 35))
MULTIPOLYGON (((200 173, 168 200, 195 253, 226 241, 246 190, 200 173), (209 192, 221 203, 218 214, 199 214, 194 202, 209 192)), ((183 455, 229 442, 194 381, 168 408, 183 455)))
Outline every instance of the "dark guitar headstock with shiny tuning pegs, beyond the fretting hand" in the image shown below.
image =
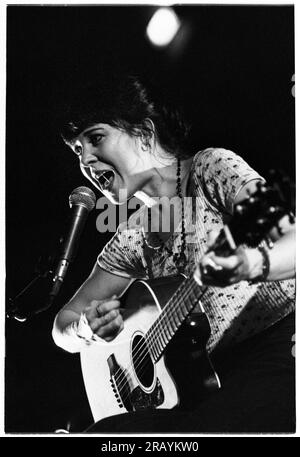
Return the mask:
POLYGON ((279 221, 288 215, 294 223, 291 181, 279 172, 271 171, 266 182, 258 182, 257 190, 234 207, 229 229, 236 245, 257 246, 279 221))

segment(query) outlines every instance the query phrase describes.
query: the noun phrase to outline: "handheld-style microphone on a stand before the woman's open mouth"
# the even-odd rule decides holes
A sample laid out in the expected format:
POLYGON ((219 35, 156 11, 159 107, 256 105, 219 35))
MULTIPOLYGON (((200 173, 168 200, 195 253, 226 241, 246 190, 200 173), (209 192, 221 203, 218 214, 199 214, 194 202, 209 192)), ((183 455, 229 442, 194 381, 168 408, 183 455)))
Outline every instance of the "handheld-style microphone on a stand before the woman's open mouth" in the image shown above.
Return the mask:
POLYGON ((48 306, 58 295, 71 262, 76 257, 79 239, 86 223, 89 212, 95 207, 96 196, 88 187, 77 187, 69 196, 69 205, 72 208, 71 222, 67 235, 63 239, 56 267, 53 284, 49 294, 48 306))

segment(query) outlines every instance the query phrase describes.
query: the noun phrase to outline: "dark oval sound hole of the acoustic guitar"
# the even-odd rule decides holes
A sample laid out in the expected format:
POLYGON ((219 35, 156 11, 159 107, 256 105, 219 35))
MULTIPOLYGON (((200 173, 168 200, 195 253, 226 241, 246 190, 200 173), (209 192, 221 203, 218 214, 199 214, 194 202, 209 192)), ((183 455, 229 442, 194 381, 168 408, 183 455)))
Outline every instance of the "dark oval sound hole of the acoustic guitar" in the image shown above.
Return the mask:
POLYGON ((140 384, 145 388, 151 387, 154 377, 154 365, 142 335, 136 335, 133 339, 132 359, 134 371, 140 384))

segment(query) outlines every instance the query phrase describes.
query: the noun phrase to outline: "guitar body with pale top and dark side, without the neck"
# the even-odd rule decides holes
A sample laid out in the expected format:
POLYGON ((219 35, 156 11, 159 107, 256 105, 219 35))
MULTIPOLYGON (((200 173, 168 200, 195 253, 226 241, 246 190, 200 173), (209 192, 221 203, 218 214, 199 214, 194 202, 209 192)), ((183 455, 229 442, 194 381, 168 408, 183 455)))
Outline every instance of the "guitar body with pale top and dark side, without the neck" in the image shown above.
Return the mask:
POLYGON ((135 281, 121 298, 122 332, 111 342, 97 341, 82 350, 83 379, 95 422, 141 409, 191 409, 204 391, 219 388, 205 351, 210 328, 204 313, 187 319, 189 325, 180 327, 158 360, 145 343, 145 334, 182 281, 135 281))

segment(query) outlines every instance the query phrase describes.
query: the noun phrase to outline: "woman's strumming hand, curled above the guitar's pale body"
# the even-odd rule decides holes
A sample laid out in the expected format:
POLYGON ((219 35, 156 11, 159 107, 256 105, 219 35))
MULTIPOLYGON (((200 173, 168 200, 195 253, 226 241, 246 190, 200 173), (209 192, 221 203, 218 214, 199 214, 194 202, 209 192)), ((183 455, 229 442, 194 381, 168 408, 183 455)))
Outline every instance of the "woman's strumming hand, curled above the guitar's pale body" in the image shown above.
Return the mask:
POLYGON ((120 300, 116 295, 105 300, 92 300, 85 309, 92 331, 105 341, 112 341, 124 328, 120 300))

